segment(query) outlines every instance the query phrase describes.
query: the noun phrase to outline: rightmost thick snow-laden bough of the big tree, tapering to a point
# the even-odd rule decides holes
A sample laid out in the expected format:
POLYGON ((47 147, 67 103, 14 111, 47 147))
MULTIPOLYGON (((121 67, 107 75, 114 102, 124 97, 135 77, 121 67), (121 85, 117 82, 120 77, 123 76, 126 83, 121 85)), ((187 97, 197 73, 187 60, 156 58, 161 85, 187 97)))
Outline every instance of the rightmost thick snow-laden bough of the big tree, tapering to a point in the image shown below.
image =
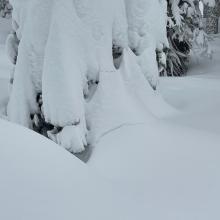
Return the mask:
POLYGON ((158 83, 156 50, 168 46, 166 1, 126 0, 129 46, 153 88, 158 83))

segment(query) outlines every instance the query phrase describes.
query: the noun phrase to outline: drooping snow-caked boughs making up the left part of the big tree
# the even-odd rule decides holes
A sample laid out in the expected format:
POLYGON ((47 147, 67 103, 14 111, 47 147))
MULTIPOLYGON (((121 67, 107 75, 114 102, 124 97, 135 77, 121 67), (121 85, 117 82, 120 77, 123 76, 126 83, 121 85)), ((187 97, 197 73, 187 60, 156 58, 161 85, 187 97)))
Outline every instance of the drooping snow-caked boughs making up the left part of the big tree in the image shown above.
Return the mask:
POLYGON ((86 145, 90 85, 100 72, 114 70, 112 45, 127 47, 124 2, 11 3, 19 49, 8 117, 80 152, 86 145))

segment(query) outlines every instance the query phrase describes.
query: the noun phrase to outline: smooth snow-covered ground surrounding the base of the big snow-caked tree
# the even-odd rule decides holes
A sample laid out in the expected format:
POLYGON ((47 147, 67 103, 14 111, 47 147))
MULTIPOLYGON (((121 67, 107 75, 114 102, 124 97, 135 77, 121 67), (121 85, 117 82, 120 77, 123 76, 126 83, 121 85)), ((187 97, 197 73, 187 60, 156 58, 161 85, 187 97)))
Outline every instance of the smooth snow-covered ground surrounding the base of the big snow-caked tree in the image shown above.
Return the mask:
MULTIPOLYGON (((4 113, 12 67, 0 28, 4 113)), ((0 219, 220 219, 220 36, 211 44, 213 60, 192 57, 186 77, 160 79, 175 115, 112 129, 86 165, 0 120, 0 219)))

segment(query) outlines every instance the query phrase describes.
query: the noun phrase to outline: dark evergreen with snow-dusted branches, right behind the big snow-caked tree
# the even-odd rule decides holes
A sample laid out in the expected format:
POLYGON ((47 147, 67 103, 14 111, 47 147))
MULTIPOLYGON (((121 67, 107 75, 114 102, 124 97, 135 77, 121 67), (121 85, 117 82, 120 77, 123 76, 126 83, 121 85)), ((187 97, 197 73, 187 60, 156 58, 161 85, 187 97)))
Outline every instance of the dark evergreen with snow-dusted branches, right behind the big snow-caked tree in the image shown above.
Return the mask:
POLYGON ((167 35, 170 47, 162 75, 184 75, 192 50, 209 57, 212 54, 203 30, 199 0, 168 0, 167 35))

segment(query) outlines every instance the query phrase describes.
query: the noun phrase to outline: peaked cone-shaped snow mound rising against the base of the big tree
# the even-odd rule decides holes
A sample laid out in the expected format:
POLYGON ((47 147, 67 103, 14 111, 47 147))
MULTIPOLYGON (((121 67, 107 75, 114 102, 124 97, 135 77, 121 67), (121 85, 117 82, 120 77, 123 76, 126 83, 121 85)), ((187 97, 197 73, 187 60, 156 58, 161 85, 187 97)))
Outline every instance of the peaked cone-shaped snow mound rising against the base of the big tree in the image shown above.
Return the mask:
POLYGON ((125 125, 149 123, 177 111, 170 107, 146 81, 137 57, 124 49, 119 70, 100 73, 97 91, 87 104, 90 142, 125 125))

